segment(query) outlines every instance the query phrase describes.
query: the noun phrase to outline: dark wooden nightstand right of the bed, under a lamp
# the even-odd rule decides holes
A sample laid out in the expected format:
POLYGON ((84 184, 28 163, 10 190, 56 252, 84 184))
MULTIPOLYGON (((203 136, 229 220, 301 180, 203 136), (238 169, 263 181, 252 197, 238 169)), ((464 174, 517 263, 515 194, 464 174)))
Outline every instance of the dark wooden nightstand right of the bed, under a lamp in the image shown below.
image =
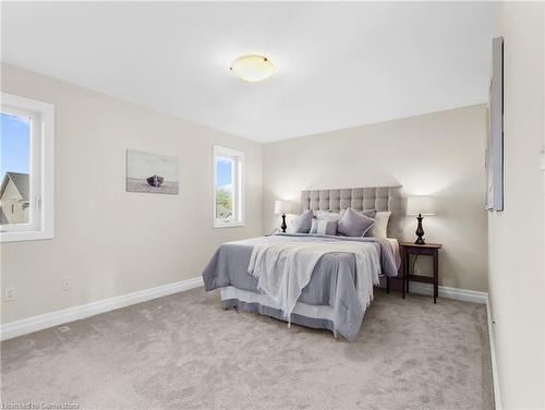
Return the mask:
MULTIPOLYGON (((439 288, 439 250, 443 248, 440 243, 426 243, 417 245, 412 242, 400 242, 401 263, 403 270, 403 280, 407 293, 409 293, 409 282, 411 280, 424 284, 432 284, 434 286, 434 303, 437 303, 438 288, 439 288), (434 276, 414 275, 411 273, 411 255, 432 256, 434 260, 434 276)), ((404 297, 404 293, 403 293, 404 297)))

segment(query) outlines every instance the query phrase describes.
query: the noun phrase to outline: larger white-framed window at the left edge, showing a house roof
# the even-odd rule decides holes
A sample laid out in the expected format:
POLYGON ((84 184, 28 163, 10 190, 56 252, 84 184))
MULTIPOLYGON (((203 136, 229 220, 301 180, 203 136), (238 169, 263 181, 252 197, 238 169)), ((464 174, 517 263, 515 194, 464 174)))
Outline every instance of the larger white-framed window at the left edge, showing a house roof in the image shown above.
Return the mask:
POLYGON ((0 239, 53 237, 53 106, 1 93, 0 239))

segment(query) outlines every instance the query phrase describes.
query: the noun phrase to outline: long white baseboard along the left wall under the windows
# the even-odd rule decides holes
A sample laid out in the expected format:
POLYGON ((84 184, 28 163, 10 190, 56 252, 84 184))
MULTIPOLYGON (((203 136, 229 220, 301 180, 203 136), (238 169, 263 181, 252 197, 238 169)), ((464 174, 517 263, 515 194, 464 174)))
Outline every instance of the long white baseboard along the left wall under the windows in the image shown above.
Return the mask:
POLYGON ((99 313, 129 306, 131 304, 142 303, 152 299, 157 299, 166 297, 168 294, 182 292, 184 290, 198 288, 203 285, 203 278, 198 276, 196 278, 181 280, 174 284, 138 290, 136 292, 104 299, 97 302, 85 303, 78 306, 23 318, 21 321, 9 322, 0 327, 0 339, 11 339, 21 335, 46 329, 48 327, 62 325, 63 323, 78 321, 85 317, 97 315, 99 313))

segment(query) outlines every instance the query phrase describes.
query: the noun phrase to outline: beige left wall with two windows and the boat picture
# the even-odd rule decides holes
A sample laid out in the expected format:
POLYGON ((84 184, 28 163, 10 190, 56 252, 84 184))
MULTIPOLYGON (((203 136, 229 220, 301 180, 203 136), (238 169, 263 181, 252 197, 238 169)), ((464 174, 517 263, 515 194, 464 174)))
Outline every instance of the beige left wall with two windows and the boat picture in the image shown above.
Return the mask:
POLYGON ((56 110, 55 239, 1 245, 2 323, 196 277, 262 233, 262 145, 14 67, 1 80, 56 110), (213 144, 245 153, 243 228, 213 228, 213 144), (180 194, 125 192, 126 148, 179 157, 180 194))

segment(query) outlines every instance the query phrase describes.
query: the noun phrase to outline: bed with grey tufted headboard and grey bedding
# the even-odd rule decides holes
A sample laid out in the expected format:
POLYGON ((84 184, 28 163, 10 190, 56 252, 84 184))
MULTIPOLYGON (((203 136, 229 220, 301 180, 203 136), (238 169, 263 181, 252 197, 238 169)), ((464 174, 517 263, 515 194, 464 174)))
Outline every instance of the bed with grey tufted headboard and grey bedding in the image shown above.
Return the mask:
POLYGON ((220 289, 225 309, 258 312, 290 324, 328 329, 334 336, 341 335, 352 341, 360 331, 365 309, 373 299, 373 286, 371 294, 363 298, 362 289, 365 287, 362 284, 372 280, 373 285, 377 285, 379 277, 395 277, 398 274, 400 261, 397 238, 402 231, 402 202, 399 186, 303 191, 301 210, 338 213, 351 207, 354 210, 391 212, 388 238, 277 233, 227 242, 217 250, 203 272, 205 289, 220 289), (249 272, 255 250, 276 244, 330 248, 329 253, 317 260, 310 281, 301 289, 288 315, 278 300, 258 289, 258 278, 249 272), (355 252, 344 252, 342 246, 358 249, 358 255, 363 255, 367 261, 367 267, 363 268, 359 264, 355 252))

